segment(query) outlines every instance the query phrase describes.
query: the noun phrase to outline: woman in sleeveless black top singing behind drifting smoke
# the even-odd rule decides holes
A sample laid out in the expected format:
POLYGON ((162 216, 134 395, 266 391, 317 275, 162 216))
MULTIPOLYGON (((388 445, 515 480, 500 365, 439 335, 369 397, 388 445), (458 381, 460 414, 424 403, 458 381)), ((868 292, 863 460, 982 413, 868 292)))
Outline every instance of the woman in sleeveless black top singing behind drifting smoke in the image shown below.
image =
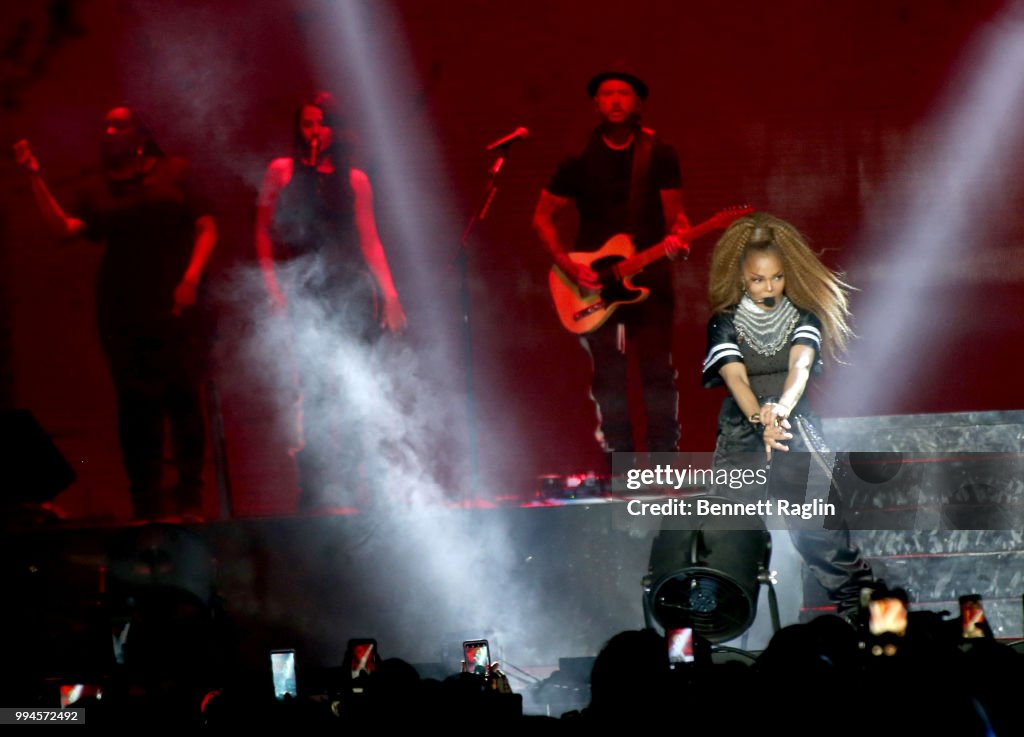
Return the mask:
POLYGON ((299 105, 292 155, 266 170, 256 253, 271 304, 292 327, 303 397, 300 503, 338 506, 341 487, 353 482, 342 476, 357 462, 359 440, 352 418, 340 417, 346 400, 337 396, 331 351, 308 336, 315 330, 367 349, 381 330, 404 329, 406 313, 377 232, 370 179, 352 165, 348 136, 326 92, 299 105))

